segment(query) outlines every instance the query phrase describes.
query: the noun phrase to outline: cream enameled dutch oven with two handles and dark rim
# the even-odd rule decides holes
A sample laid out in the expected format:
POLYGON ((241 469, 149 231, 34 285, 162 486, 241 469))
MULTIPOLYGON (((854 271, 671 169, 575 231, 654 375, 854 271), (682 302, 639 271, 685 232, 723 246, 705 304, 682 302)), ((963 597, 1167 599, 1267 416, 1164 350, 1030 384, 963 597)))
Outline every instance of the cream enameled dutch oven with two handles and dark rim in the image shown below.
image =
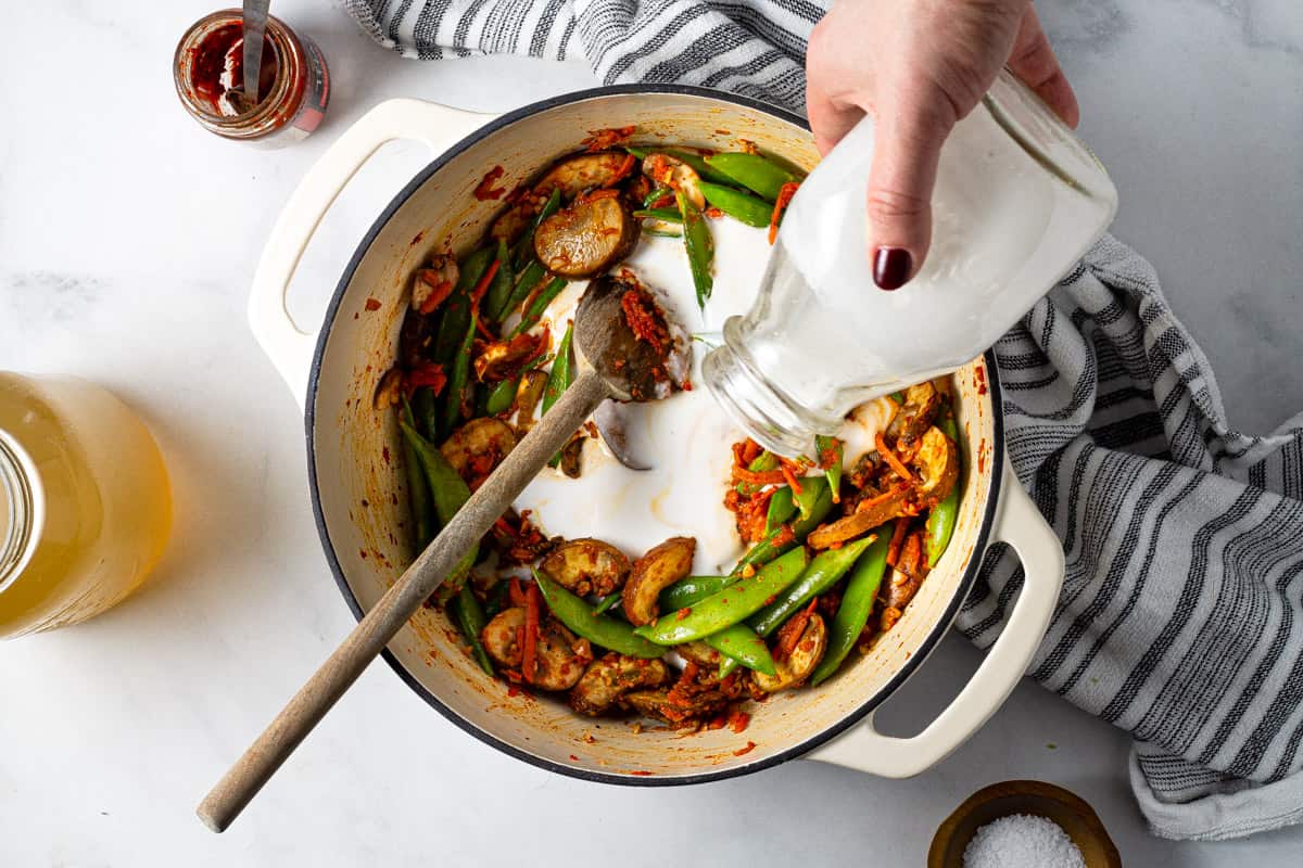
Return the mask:
MULTIPOLYGON (((435 250, 465 254, 499 210, 472 191, 494 165, 508 189, 576 150, 589 130, 637 126, 637 141, 724 148, 736 138, 807 169, 817 161, 801 118, 754 100, 675 86, 569 94, 502 117, 416 100, 378 105, 311 168, 272 230, 254 278, 254 334, 305 402, 313 508, 326 557, 361 617, 410 560, 403 470, 392 414, 371 409, 396 353, 412 272, 435 250), (358 245, 318 334, 296 329, 284 294, 298 258, 335 195, 384 142, 423 139, 437 154, 395 197, 358 245), (379 307, 375 308, 375 299, 379 307), (370 302, 370 303, 369 303, 370 302), (375 308, 375 310, 369 310, 375 308)), ((460 651, 443 616, 422 610, 390 643, 386 660, 430 705, 472 735, 536 765, 611 783, 694 783, 807 757, 887 777, 916 774, 977 730, 1023 674, 1049 623, 1063 575, 1058 540, 1007 470, 999 381, 992 358, 954 375, 966 478, 954 541, 899 623, 863 658, 816 690, 778 694, 743 735, 683 738, 593 721, 563 703, 509 698, 460 651), (972 681, 923 733, 890 738, 877 708, 950 627, 993 541, 1018 550, 1025 583, 1007 629, 972 681), (747 742, 754 747, 735 753, 747 742)))

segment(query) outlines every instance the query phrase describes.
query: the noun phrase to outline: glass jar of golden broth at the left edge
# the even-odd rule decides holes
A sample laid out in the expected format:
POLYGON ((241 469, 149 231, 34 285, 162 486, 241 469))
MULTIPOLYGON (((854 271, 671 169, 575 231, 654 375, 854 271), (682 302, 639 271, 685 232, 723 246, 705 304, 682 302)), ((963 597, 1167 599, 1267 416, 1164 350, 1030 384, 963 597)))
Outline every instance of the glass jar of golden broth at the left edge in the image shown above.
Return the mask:
POLYGON ((163 458, 126 405, 83 380, 0 372, 0 638, 113 606, 171 526, 163 458))

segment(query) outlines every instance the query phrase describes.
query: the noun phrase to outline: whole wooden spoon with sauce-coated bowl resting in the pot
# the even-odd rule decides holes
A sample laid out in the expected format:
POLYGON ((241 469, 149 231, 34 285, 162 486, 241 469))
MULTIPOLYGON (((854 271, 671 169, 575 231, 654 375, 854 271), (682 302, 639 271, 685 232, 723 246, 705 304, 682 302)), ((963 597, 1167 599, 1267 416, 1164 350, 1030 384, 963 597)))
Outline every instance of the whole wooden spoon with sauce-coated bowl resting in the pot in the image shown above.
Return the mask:
MULTIPOLYGON (((641 337, 636 334, 623 305, 631 289, 632 285, 612 277, 589 284, 575 316, 575 344, 582 359, 580 376, 199 803, 199 819, 210 829, 222 832, 231 825, 602 401, 666 398, 681 383, 679 373, 685 375, 691 366, 689 342, 671 338, 666 347, 648 340, 645 329, 640 329, 641 337)), ((666 312, 652 297, 645 298, 662 318, 665 333, 679 333, 665 321, 666 312)))

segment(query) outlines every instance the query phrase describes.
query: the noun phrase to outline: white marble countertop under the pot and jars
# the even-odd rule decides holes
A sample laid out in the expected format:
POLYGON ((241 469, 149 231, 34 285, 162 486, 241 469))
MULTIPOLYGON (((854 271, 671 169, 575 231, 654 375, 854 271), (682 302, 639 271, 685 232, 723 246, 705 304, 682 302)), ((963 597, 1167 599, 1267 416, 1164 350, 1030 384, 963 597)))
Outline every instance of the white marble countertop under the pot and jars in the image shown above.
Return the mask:
MULTIPOLYGON (((911 781, 792 763, 638 790, 498 753, 378 664, 235 828, 203 829, 199 796, 352 626, 310 517, 302 422, 245 325, 280 203, 387 96, 503 111, 594 83, 579 64, 404 61, 339 5, 278 3, 324 49, 335 91, 327 124, 272 154, 201 131, 176 103, 172 48, 210 5, 7 9, 23 39, 0 53, 0 368, 90 376, 133 403, 167 454, 177 523, 156 579, 126 604, 0 647, 0 864, 556 864, 579 835, 588 854, 652 864, 638 832, 674 822, 698 863, 917 865, 959 802, 1020 777, 1092 802, 1128 865, 1298 864, 1303 829, 1216 845, 1149 837, 1126 737, 1032 683, 911 781)), ((1083 134, 1118 182, 1114 232, 1157 265, 1233 422, 1274 426, 1303 407, 1303 8, 1037 5, 1083 134)), ((361 233, 425 160, 390 146, 341 198, 296 278, 302 323, 319 319, 361 233)), ((929 720, 976 660, 949 639, 889 703, 889 727, 929 720)))

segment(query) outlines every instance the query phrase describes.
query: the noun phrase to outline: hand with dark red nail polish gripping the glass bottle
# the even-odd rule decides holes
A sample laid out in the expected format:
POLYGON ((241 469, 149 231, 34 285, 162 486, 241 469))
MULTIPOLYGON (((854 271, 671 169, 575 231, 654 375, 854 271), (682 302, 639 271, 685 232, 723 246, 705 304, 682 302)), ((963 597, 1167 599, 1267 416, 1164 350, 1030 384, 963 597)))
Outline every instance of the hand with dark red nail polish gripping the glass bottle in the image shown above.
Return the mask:
POLYGON ((1006 64, 1076 126, 1076 96, 1031 0, 837 0, 810 34, 805 102, 820 152, 865 113, 876 124, 868 245, 880 288, 919 273, 941 146, 1006 64))

